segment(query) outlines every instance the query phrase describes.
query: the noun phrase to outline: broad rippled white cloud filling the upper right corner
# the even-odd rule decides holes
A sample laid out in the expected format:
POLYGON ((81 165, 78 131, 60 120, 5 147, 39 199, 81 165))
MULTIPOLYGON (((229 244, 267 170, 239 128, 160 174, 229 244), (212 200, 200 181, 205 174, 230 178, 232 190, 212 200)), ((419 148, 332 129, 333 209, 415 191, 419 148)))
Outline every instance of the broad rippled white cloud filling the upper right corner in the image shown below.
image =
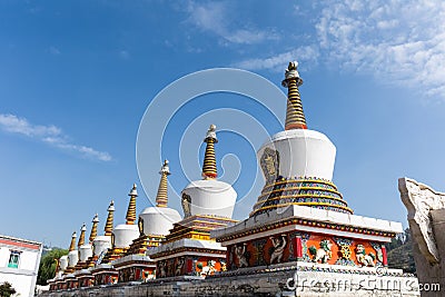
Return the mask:
POLYGON ((444 1, 329 1, 319 11, 310 42, 237 65, 275 70, 287 60, 306 60, 313 51, 330 67, 445 99, 444 1))

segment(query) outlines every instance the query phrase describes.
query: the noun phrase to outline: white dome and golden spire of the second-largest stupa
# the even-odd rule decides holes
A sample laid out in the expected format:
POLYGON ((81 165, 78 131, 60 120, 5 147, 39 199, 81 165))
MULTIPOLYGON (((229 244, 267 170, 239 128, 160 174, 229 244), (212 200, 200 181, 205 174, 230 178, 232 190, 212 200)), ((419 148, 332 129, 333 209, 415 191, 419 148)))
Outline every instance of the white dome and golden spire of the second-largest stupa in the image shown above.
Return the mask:
POLYGON ((210 125, 204 140, 207 142, 202 165, 202 180, 191 181, 181 192, 182 209, 186 217, 209 215, 231 218, 237 198, 234 188, 217 180, 215 158, 216 126, 210 125))

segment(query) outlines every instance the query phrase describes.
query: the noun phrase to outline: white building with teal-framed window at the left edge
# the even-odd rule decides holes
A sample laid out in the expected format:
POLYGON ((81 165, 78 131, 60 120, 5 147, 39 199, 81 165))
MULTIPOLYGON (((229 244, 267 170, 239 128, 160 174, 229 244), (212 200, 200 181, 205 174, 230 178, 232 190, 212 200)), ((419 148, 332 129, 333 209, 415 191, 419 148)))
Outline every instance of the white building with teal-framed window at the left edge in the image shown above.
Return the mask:
POLYGON ((33 296, 43 245, 0 235, 0 284, 8 281, 14 296, 33 296))

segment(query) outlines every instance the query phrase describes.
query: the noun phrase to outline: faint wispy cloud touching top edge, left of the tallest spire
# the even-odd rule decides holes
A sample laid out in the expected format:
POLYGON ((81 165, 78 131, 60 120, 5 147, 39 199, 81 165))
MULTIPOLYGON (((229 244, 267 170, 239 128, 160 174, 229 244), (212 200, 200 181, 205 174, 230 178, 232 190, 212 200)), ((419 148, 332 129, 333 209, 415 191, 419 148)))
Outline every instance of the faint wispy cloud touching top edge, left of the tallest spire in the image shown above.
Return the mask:
POLYGON ((187 7, 188 20, 204 31, 212 32, 229 43, 253 44, 265 40, 278 39, 271 30, 255 28, 231 28, 229 13, 224 2, 196 3, 190 1, 187 7))

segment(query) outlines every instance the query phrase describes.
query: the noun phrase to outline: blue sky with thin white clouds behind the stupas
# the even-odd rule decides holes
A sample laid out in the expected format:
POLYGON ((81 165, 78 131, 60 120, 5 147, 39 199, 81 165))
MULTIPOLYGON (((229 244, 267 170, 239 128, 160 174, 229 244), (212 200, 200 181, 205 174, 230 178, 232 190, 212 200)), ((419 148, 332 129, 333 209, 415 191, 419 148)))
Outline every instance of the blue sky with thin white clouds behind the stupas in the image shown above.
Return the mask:
MULTIPOLYGON (((127 194, 140 184, 139 122, 160 90, 216 67, 279 87, 295 59, 308 127, 337 147, 344 198, 357 215, 406 226, 397 178, 443 189, 444 14, 442 1, 1 1, 0 234, 68 247, 96 212, 102 230, 111 198, 123 222, 127 194)), ((285 102, 276 105, 283 120, 285 102)), ((256 129, 280 126, 241 96, 190 101, 154 139, 171 160, 172 207, 187 178, 200 177, 211 120, 253 131, 218 133, 219 171, 243 198, 241 219, 259 194, 251 143, 265 139, 256 129)), ((160 160, 144 166, 154 197, 160 160)), ((139 194, 138 211, 150 205, 139 194)))

